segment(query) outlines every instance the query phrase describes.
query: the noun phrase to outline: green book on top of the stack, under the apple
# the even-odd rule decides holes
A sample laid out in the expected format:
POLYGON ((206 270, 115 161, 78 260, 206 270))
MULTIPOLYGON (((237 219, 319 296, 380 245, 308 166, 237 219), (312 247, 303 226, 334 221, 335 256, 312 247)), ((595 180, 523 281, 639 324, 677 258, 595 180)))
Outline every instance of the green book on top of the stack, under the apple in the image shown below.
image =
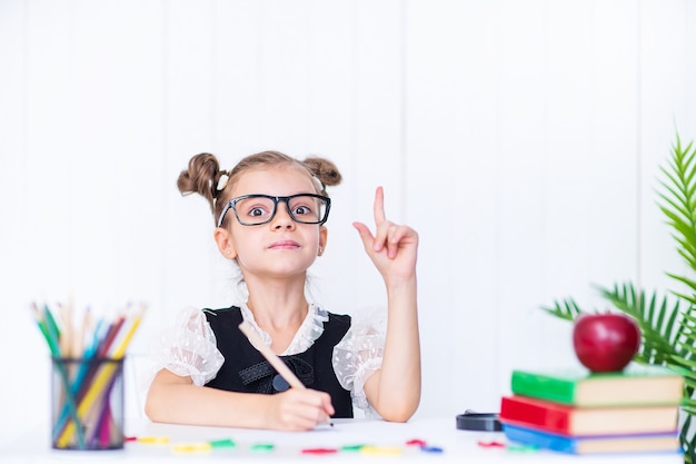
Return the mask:
POLYGON ((632 363, 622 372, 587 369, 513 371, 516 395, 573 406, 678 405, 684 377, 663 366, 632 363))

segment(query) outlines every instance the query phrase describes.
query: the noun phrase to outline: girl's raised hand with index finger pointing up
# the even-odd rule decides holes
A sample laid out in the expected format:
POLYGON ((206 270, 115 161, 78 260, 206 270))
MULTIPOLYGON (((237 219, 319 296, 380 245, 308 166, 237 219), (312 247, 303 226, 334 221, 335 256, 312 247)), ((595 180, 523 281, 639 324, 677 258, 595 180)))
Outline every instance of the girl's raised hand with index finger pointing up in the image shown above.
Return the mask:
POLYGON ((399 226, 385 216, 385 194, 381 187, 375 192, 375 235, 362 223, 352 226, 360 234, 368 256, 387 283, 408 279, 416 274, 418 234, 408 226, 399 226))

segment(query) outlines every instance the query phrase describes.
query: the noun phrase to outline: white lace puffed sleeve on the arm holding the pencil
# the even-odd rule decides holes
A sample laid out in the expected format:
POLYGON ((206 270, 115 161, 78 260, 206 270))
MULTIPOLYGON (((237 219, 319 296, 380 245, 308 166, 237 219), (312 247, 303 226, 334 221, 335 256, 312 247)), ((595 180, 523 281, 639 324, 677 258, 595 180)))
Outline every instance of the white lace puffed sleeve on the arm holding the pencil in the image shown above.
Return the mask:
POLYGON ((203 312, 187 308, 156 339, 152 362, 156 371, 166 367, 173 374, 191 376, 195 385, 202 386, 215 378, 225 358, 203 312))

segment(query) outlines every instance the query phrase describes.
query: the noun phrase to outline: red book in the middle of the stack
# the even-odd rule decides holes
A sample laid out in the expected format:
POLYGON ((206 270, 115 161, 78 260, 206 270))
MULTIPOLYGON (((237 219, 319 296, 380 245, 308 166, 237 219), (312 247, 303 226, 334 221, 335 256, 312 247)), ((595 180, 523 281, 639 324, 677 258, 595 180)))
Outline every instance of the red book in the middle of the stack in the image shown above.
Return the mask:
POLYGON ((567 436, 626 435, 677 431, 678 406, 577 407, 527 396, 505 396, 503 424, 567 436))

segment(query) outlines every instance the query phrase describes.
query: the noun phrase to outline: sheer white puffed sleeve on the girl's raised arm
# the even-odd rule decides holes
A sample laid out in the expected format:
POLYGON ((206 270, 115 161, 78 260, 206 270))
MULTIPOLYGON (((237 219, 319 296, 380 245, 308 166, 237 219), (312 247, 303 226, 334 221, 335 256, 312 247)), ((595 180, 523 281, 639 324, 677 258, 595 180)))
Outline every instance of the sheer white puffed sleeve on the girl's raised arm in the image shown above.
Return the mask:
POLYGON ((385 348, 386 310, 370 309, 351 317, 350 329, 334 348, 334 371, 366 417, 379 417, 365 395, 365 382, 381 368, 385 348))

